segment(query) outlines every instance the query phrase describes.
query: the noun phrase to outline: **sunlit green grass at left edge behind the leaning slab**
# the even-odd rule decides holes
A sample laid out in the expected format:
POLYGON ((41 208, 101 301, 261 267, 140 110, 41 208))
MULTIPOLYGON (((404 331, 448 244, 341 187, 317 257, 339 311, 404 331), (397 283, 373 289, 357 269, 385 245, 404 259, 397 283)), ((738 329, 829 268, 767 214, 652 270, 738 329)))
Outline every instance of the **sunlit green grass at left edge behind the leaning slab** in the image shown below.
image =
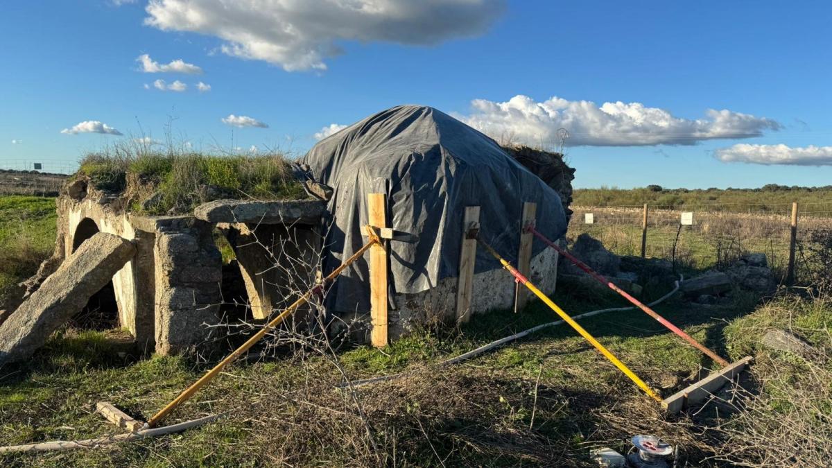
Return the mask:
POLYGON ((52 254, 56 217, 54 198, 0 197, 0 296, 52 254))

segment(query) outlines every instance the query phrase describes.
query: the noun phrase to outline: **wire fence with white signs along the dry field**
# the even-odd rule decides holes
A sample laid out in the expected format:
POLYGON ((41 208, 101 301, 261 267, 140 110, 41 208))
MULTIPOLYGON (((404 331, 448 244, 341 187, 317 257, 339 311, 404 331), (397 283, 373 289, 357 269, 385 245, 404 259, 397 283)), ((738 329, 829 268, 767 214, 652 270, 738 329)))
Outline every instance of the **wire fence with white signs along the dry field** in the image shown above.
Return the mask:
MULTIPOLYGON (((748 204, 744 204, 748 205, 748 204)), ((586 232, 618 255, 641 255, 643 207, 572 207, 567 240, 586 232)), ((787 274, 792 204, 737 207, 726 204, 648 207, 645 256, 696 269, 728 266, 745 253, 765 253, 769 266, 787 274)), ((805 203, 798 210, 795 276, 813 271, 812 242, 832 231, 832 202, 805 203)))

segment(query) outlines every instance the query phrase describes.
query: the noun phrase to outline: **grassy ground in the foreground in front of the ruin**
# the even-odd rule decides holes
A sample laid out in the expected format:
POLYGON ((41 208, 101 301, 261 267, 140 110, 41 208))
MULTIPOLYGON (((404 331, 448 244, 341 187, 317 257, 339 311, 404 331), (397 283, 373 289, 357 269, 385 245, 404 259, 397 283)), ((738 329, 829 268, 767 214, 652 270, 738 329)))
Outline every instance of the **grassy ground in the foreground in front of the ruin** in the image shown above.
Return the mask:
MULTIPOLYGON (((621 304, 608 300, 587 303, 567 291, 558 293, 554 299, 572 315, 621 304)), ((752 304, 739 297, 730 307, 703 312, 671 301, 658 311, 692 336, 724 351, 721 330, 726 321, 747 313, 752 304)), ((410 380, 399 381, 392 387, 365 387, 359 393, 379 441, 393 444, 385 439, 394 437, 386 431, 398 428, 395 444, 403 450, 399 453, 400 463, 433 466, 437 464, 433 455, 436 450, 443 457, 448 456, 445 461, 448 466, 472 463, 514 466, 526 456, 523 451, 537 449, 527 446, 521 437, 509 444, 517 444, 517 451, 495 452, 497 449, 489 445, 488 437, 503 441, 504 437, 513 438, 518 433, 532 437, 537 441, 535 444, 546 441, 566 447, 571 457, 583 456, 585 444, 595 440, 594 431, 601 424, 595 410, 612 409, 622 401, 641 401, 642 396, 621 372, 567 326, 538 332, 447 370, 429 370, 433 363, 449 356, 556 319, 552 311, 532 301, 521 314, 495 311, 476 316, 459 331, 416 331, 383 351, 369 346, 339 351, 339 362, 356 379, 399 371, 416 372, 410 380), (536 382, 541 395, 537 404, 533 399, 536 382), (453 395, 437 390, 438 386, 453 386, 454 390, 449 393, 461 392, 456 396, 461 400, 453 406, 443 406, 446 404, 438 400, 453 395), (379 403, 382 408, 374 409, 374 402, 382 401, 378 398, 384 403, 379 403), (593 411, 588 411, 590 408, 593 411), (536 412, 534 421, 532 410, 536 412), (419 423, 423 429, 418 427, 419 423), (528 429, 530 425, 532 430, 528 429), (458 437, 479 427, 491 429, 470 441, 473 446, 459 446, 458 437), (433 448, 425 436, 429 436, 433 448)), ((641 311, 595 316, 582 321, 582 325, 651 385, 658 386, 666 376, 675 378, 676 384, 666 389, 667 394, 690 383, 701 366, 711 366, 698 352, 683 345, 641 311)), ((108 352, 106 346, 100 332, 67 332, 54 337, 27 366, 4 370, 12 374, 0 381, 0 420, 3 421, 0 444, 113 433, 111 426, 90 413, 96 401, 111 401, 131 415, 147 418, 211 364, 197 364, 186 357, 120 358, 108 352)), ((168 421, 231 411, 229 417, 218 423, 103 451, 7 456, 0 461, 8 466, 30 463, 89 466, 104 461, 117 466, 237 466, 240 461, 265 460, 265 454, 279 452, 289 456, 287 460, 294 461, 293 464, 349 464, 349 456, 355 450, 349 444, 321 440, 317 435, 305 446, 286 446, 285 437, 290 434, 263 436, 262 429, 256 429, 260 425, 252 422, 270 421, 269 425, 279 427, 290 424, 289 428, 295 427, 291 437, 314 431, 314 418, 304 416, 305 406, 281 403, 286 395, 317 398, 315 404, 333 408, 329 411, 352 411, 349 409, 354 407, 352 403, 342 401, 339 395, 343 394, 333 390, 332 385, 340 381, 340 376, 328 359, 314 353, 306 357, 302 353, 289 354, 275 361, 238 362, 226 372, 168 421), (314 377, 314 383, 310 383, 310 376, 314 377), (310 391, 310 386, 317 390, 310 391), (279 389, 281 397, 269 396, 270 389, 279 389)), ((345 416, 334 417, 341 421, 345 416)), ((332 431, 329 436, 337 439, 337 431, 332 431)), ((357 432, 350 433, 351 436, 360 437, 361 431, 354 431, 357 432)), ((499 442, 503 443, 508 444, 499 442)), ((620 448, 626 450, 626 446, 620 448)), ((384 450, 393 448, 387 445, 384 450)))

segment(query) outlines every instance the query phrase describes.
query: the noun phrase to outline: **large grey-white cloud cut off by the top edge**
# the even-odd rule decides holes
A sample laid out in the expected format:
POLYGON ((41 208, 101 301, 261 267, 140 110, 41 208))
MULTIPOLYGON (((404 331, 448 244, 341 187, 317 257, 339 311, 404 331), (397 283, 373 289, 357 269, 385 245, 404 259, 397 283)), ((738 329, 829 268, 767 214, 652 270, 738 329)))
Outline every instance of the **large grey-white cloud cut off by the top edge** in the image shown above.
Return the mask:
POLYGON ((151 0, 145 24, 220 37, 234 57, 287 71, 326 68, 341 41, 432 45, 473 37, 503 13, 505 0, 151 0))

